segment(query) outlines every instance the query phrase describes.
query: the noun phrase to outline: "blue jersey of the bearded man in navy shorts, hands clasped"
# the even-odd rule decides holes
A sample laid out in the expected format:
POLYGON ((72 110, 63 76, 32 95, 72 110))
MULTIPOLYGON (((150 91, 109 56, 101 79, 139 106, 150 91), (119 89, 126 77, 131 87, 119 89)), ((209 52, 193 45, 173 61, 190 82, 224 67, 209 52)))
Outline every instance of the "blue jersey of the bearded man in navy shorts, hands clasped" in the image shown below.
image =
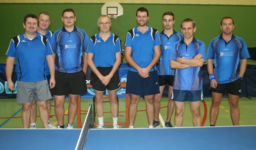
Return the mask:
MULTIPOLYGON (((132 48, 132 59, 140 66, 140 68, 146 68, 153 57, 155 57, 155 46, 161 45, 159 32, 157 31, 155 35, 152 35, 153 29, 148 26, 148 30, 142 34, 138 31, 138 25, 132 29, 133 36, 128 32, 126 35, 125 46, 132 48), (154 40, 155 38, 155 40, 154 40)), ((154 66, 149 70, 157 70, 154 66)), ((134 68, 130 68, 130 71, 138 72, 134 68)))

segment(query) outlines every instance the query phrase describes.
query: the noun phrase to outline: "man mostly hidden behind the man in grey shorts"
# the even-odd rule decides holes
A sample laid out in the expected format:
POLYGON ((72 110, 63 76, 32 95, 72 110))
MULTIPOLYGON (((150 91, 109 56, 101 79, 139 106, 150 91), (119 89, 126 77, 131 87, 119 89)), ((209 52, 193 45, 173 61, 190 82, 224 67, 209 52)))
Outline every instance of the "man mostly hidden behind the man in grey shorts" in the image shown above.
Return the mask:
MULTIPOLYGON (((38 24, 37 32, 40 35, 45 36, 48 39, 48 41, 50 41, 50 39, 53 36, 53 32, 48 30, 48 27, 50 25, 50 16, 49 16, 49 14, 46 13, 46 12, 40 13, 38 15, 38 20, 39 20, 39 24, 38 24)), ((46 71, 46 76, 47 76, 47 80, 48 80, 48 84, 49 84, 50 71, 49 71, 47 62, 45 63, 45 71, 46 71)), ((48 127, 49 128, 56 128, 50 122, 50 108, 52 107, 52 104, 51 104, 50 100, 51 99, 47 100, 48 127)), ((32 108, 31 108, 31 116, 30 116, 30 128, 36 128, 36 123, 35 122, 36 122, 36 101, 33 100, 32 108)))

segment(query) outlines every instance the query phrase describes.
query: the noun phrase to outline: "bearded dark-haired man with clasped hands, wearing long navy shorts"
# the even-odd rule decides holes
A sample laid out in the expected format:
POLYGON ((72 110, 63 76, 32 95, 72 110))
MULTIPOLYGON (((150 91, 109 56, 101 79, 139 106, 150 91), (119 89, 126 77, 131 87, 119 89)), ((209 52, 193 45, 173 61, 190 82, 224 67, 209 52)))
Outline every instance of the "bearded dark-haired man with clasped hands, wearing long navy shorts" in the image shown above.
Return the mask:
POLYGON ((138 25, 128 31, 125 40, 125 59, 131 66, 126 84, 126 93, 130 93, 130 128, 134 128, 141 95, 144 95, 146 101, 148 127, 153 127, 153 98, 160 93, 156 63, 161 55, 161 41, 159 32, 146 24, 148 19, 147 9, 139 8, 136 12, 138 25))

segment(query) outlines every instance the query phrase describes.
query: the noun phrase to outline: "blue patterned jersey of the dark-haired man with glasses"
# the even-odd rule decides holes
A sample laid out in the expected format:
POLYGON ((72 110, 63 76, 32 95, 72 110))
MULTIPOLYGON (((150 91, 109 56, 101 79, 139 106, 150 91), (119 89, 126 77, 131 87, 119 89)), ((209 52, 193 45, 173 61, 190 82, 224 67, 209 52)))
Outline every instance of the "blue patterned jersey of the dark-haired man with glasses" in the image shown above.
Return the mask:
POLYGON ((65 27, 54 32, 50 46, 54 53, 56 70, 66 73, 75 73, 83 69, 83 52, 86 51, 89 38, 82 29, 74 27, 68 32, 65 27))

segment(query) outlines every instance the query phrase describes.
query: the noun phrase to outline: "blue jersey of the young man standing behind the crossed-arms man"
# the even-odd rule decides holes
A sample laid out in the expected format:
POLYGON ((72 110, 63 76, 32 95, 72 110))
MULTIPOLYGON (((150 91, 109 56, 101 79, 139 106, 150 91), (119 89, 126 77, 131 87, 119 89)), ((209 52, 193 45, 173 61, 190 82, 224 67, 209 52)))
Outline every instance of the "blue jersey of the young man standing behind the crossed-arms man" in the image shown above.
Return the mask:
POLYGON ((160 39, 161 39, 161 57, 158 61, 157 68, 158 68, 158 75, 174 75, 174 72, 172 71, 170 67, 170 50, 172 48, 172 45, 175 42, 180 41, 183 39, 183 35, 181 33, 178 33, 173 30, 173 34, 168 37, 165 35, 164 30, 160 33, 160 39))

